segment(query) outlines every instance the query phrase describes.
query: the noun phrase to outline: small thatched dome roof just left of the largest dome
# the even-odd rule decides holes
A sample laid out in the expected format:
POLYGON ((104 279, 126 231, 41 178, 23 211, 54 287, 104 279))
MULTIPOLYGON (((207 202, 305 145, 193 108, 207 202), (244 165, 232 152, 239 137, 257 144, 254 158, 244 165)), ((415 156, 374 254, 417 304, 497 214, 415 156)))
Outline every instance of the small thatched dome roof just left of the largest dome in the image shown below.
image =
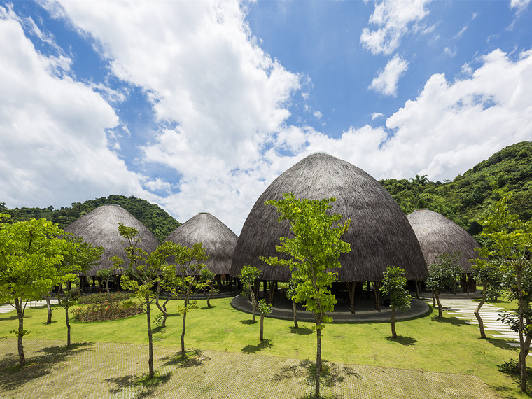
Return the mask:
POLYGON ((214 274, 229 274, 237 240, 238 236, 230 228, 207 213, 190 218, 165 239, 184 246, 201 242, 209 255, 204 265, 214 274))

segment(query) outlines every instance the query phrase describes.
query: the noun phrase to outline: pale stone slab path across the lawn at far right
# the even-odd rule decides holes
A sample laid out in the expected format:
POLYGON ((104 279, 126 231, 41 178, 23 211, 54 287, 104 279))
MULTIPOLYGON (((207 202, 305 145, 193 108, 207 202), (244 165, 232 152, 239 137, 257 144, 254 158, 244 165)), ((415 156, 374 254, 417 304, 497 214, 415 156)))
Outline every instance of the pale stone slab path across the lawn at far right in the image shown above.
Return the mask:
MULTIPOLYGON (((477 318, 473 313, 477 309, 478 302, 469 299, 440 299, 442 307, 449 311, 450 316, 465 320, 468 324, 478 324, 477 318)), ((512 339, 517 342, 507 342, 510 346, 519 346, 519 334, 510 330, 510 327, 498 321, 500 318, 498 311, 504 310, 500 307, 493 307, 485 303, 480 308, 480 317, 484 322, 484 331, 486 335, 493 338, 512 339)), ((479 329, 479 327, 477 327, 479 329)), ((532 356, 532 353, 529 355, 532 356)))

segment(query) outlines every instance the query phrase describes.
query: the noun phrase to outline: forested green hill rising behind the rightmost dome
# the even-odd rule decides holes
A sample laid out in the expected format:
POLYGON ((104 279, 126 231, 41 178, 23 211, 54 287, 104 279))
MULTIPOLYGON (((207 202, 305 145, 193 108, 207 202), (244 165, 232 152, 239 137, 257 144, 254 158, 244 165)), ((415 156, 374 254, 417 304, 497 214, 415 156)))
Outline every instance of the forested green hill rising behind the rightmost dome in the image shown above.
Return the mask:
POLYGON ((470 234, 479 232, 475 219, 501 197, 511 194, 510 208, 521 220, 532 218, 532 142, 503 148, 454 181, 386 179, 380 183, 409 214, 428 208, 447 216, 470 234))

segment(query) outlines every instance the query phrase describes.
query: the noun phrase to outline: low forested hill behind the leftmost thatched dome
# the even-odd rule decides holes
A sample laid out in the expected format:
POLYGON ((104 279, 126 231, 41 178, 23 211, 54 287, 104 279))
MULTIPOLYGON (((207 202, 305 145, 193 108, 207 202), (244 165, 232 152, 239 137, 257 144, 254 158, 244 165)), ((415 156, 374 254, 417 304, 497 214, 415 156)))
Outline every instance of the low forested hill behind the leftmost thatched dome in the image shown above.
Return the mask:
POLYGON ((61 209, 48 208, 15 208, 7 209, 6 204, 0 202, 0 212, 10 214, 13 221, 27 221, 30 218, 46 218, 49 221, 59 224, 59 228, 65 228, 76 219, 89 213, 93 209, 103 204, 118 204, 130 214, 133 214, 139 221, 159 239, 164 241, 168 235, 181 225, 172 218, 166 211, 157 204, 151 204, 146 200, 134 196, 109 195, 109 197, 87 200, 85 202, 74 202, 71 207, 61 209))

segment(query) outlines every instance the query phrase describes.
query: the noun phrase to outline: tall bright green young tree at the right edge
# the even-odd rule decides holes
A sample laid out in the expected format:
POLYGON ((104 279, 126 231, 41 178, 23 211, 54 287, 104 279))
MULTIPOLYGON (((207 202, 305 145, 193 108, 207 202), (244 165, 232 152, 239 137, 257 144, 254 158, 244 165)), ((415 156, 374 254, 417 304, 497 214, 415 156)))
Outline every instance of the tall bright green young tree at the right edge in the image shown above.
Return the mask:
MULTIPOLYGON (((486 238, 486 246, 479 254, 500 261, 507 288, 518 301, 517 320, 513 327, 519 332, 521 392, 525 392, 526 356, 532 341, 532 226, 510 213, 506 197, 496 202, 478 222, 482 225, 480 235, 486 238)), ((506 322, 512 323, 511 320, 506 322)))

